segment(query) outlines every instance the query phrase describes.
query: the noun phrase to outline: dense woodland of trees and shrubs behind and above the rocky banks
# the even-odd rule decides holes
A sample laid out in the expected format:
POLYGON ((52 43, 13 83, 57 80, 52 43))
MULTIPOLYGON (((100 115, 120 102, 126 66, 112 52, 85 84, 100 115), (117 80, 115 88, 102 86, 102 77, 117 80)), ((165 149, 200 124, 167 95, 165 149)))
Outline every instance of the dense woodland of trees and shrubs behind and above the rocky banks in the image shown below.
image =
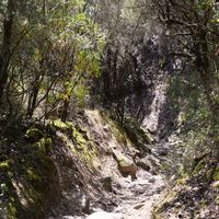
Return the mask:
MULTIPOLYGON (((130 120, 143 126, 158 111, 158 87, 166 94, 147 131, 157 142, 181 139, 174 181, 192 178, 207 158, 198 169, 206 177, 197 181, 218 182, 218 68, 217 0, 2 0, 0 208, 10 199, 5 161, 25 154, 18 142, 30 127, 73 122, 88 108, 122 128, 130 120)), ((173 166, 165 171, 170 176, 173 166)))

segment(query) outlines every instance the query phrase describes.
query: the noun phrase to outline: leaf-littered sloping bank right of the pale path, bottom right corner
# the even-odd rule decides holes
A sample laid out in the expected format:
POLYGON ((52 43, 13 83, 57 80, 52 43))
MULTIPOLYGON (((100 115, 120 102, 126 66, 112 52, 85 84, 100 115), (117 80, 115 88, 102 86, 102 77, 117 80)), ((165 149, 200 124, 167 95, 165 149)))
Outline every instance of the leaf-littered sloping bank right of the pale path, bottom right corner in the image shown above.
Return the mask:
POLYGON ((206 153, 195 158, 193 168, 169 187, 157 203, 153 219, 218 219, 218 158, 206 153))

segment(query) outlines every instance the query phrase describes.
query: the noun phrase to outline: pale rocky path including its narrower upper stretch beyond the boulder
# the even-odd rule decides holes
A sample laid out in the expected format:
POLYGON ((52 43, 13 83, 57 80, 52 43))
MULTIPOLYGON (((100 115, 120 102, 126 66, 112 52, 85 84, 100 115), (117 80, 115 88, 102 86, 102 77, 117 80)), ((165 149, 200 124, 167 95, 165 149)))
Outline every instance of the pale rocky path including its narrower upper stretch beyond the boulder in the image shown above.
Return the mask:
MULTIPOLYGON (((151 148, 151 154, 143 159, 146 162, 152 161, 151 168, 158 165, 157 171, 155 169, 146 171, 138 166, 135 181, 131 181, 130 176, 123 177, 116 173, 117 178, 112 185, 113 192, 108 194, 108 199, 101 200, 102 204, 106 204, 106 208, 99 207, 97 203, 93 203, 91 215, 65 216, 62 219, 151 219, 153 204, 158 204, 162 199, 168 184, 161 173, 161 166, 164 163, 172 165, 173 153, 175 154, 174 159, 182 157, 183 151, 177 148, 178 142, 178 137, 172 135, 166 141, 148 146, 151 148)), ((112 166, 108 160, 104 166, 112 166)), ((111 168, 110 171, 113 175, 114 169, 111 168)))

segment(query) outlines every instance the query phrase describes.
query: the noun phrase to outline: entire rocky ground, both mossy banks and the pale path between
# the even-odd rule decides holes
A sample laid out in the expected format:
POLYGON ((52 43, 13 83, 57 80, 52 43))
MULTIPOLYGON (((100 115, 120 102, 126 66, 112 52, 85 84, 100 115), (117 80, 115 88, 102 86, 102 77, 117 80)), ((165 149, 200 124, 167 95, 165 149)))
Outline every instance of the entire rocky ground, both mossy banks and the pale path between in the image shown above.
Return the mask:
MULTIPOLYGON (((216 172, 210 184, 199 178, 209 176, 214 165, 209 157, 196 164, 194 177, 176 181, 184 157, 177 132, 157 142, 135 123, 120 127, 99 111, 41 128, 24 129, 16 147, 20 151, 0 163, 0 176, 5 180, 0 200, 11 197, 14 218, 218 218, 219 174, 216 172), (33 198, 38 204, 35 209, 30 205, 33 198)), ((7 207, 0 206, 0 218, 10 218, 7 214, 7 207)))

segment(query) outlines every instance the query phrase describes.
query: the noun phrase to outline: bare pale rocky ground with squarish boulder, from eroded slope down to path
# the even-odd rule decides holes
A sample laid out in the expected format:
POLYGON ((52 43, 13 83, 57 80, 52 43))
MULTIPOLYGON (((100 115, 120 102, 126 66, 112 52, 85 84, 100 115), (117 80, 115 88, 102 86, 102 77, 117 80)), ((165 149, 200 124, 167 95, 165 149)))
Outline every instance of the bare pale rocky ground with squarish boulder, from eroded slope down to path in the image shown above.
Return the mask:
POLYGON ((136 147, 137 142, 134 145, 128 136, 117 132, 114 124, 103 122, 100 113, 85 114, 85 120, 82 123, 89 125, 89 138, 92 138, 102 151, 105 150, 94 162, 99 170, 92 178, 95 185, 82 192, 78 199, 74 198, 76 191, 69 191, 68 200, 64 200, 62 206, 51 214, 49 219, 150 219, 153 203, 165 187, 157 153, 151 152, 157 151, 154 142, 138 142, 136 147), (126 160, 125 163, 123 159, 126 160), (95 192, 96 187, 101 188, 99 194, 95 192), (69 210, 70 206, 79 203, 82 211, 69 210))

